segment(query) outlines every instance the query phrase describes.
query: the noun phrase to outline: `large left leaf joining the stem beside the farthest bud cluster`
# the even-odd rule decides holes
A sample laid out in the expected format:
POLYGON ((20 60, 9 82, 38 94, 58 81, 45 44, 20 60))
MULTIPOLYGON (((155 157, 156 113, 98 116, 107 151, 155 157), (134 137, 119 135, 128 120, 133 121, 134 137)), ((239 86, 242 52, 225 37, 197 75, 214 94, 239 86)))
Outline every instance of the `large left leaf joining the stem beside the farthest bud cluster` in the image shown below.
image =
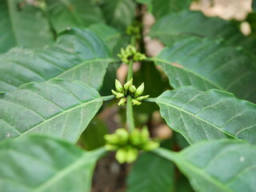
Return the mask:
POLYGON ((0 91, 50 78, 79 80, 99 90, 112 60, 105 43, 90 30, 65 30, 54 47, 16 48, 0 56, 0 91))

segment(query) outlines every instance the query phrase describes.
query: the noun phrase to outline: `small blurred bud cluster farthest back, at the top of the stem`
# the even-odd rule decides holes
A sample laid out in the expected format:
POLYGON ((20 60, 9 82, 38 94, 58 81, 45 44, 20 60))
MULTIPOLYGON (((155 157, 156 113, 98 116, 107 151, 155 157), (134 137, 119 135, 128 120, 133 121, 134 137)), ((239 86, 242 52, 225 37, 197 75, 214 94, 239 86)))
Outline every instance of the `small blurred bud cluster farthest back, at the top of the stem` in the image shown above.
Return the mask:
POLYGON ((146 59, 145 54, 137 52, 134 46, 127 46, 126 49, 121 48, 121 54, 118 54, 118 57, 121 58, 121 61, 128 64, 130 59, 133 59, 134 62, 142 61, 146 59))

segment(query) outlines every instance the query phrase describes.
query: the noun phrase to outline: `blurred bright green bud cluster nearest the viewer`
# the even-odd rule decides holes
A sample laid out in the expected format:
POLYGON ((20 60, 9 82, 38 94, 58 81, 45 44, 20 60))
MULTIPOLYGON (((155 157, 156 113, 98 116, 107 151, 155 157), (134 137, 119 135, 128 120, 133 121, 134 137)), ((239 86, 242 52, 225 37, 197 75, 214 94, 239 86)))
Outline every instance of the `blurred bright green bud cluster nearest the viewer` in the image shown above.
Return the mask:
POLYGON ((158 142, 150 140, 150 133, 146 127, 142 130, 134 129, 131 133, 120 128, 114 134, 106 134, 106 150, 116 150, 115 158, 120 163, 134 162, 139 150, 154 150, 158 142))

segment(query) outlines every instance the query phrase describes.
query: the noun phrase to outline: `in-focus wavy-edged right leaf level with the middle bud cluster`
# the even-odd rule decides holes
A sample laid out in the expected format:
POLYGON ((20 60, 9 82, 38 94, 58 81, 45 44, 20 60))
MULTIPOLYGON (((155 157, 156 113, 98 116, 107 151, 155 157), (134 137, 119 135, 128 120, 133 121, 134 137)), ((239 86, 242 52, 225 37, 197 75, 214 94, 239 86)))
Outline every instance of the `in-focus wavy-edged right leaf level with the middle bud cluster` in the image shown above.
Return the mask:
POLYGON ((227 134, 256 144, 256 106, 233 94, 186 86, 166 90, 151 100, 158 103, 167 124, 190 143, 227 134))

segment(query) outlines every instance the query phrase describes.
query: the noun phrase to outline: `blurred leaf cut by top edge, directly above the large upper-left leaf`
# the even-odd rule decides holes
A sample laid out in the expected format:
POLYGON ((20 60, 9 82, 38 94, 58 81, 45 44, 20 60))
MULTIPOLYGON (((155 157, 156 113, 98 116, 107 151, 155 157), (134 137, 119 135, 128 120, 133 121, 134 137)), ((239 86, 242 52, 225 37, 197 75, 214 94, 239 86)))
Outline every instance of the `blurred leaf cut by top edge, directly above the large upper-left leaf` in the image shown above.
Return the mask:
POLYGON ((47 0, 46 3, 50 21, 57 31, 104 22, 102 11, 91 0, 47 0))

